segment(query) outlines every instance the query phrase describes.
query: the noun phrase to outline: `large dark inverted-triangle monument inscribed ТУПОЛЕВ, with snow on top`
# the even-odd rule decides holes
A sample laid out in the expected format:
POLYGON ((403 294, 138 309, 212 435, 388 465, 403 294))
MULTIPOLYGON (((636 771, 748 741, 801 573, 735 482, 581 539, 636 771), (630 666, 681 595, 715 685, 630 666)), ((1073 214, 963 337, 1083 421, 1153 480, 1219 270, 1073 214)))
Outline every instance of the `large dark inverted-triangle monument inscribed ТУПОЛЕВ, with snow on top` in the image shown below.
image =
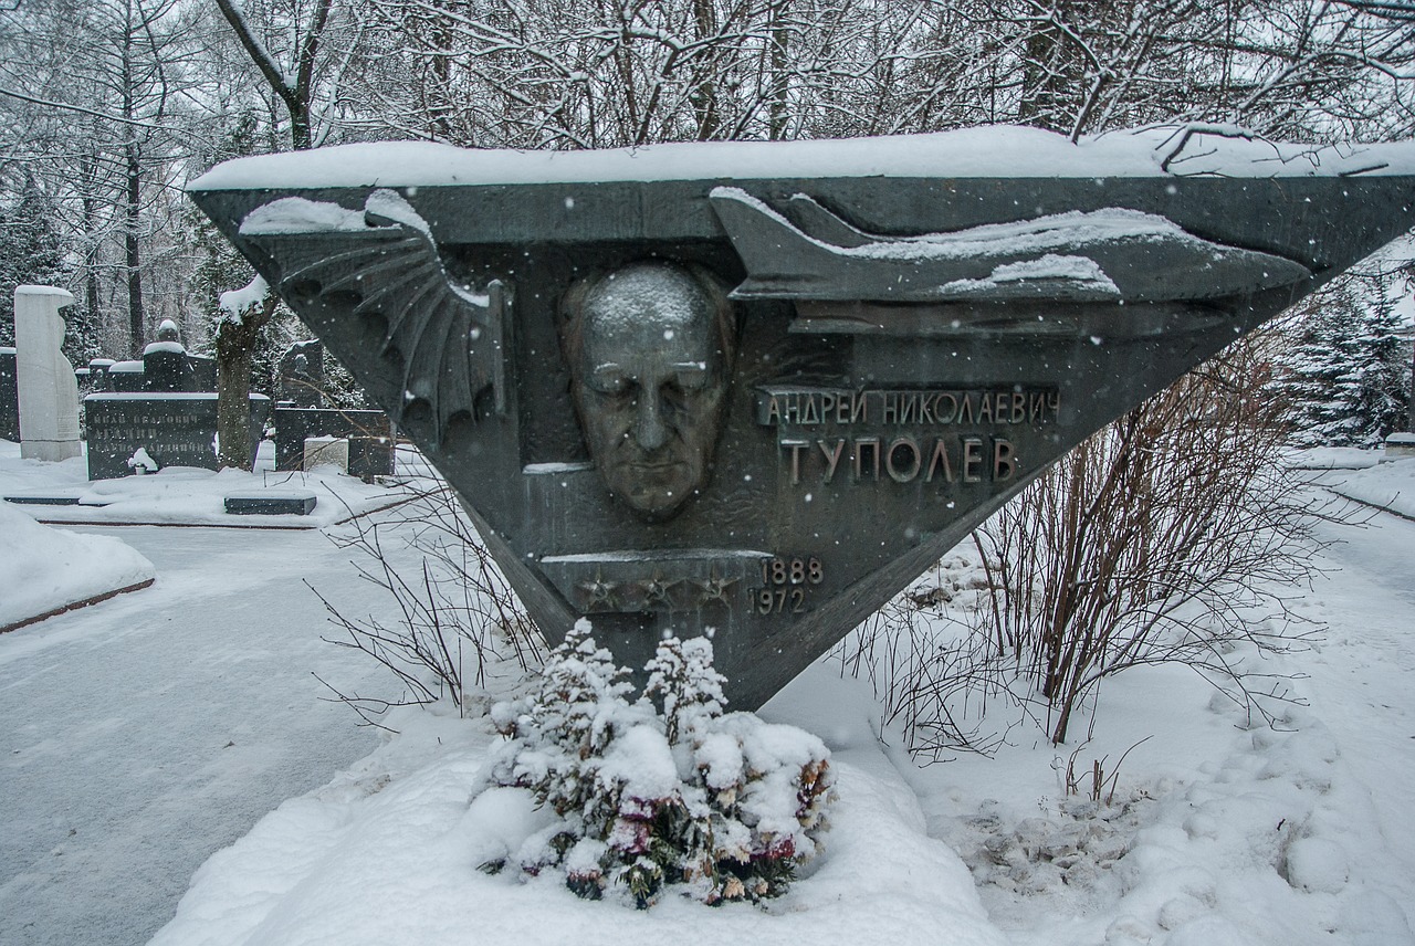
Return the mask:
POLYGON ((1411 225, 1415 147, 1165 134, 350 146, 190 194, 552 639, 589 617, 642 666, 713 629, 750 708, 1064 451, 1411 225))

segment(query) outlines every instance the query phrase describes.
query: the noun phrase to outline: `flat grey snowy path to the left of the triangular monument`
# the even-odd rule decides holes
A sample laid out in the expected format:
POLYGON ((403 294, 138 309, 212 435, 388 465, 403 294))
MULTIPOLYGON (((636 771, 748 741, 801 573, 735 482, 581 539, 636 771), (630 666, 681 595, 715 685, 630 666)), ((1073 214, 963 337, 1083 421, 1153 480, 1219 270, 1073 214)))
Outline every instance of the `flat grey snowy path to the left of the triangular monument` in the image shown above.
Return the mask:
POLYGON ((320 641, 301 580, 369 594, 323 535, 86 532, 158 577, 0 636, 4 946, 147 942, 212 851, 376 744, 310 676, 374 673, 320 641))

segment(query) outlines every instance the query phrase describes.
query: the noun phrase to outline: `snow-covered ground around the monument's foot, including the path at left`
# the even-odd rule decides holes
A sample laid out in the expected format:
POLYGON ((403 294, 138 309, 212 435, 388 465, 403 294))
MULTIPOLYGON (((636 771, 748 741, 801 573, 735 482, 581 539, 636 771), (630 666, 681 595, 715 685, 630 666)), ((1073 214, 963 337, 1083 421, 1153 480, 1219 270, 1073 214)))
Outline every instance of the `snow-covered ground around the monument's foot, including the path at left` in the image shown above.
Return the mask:
MULTIPOLYGON (((1361 475, 1399 489, 1415 461, 1361 475)), ((516 822, 468 806, 481 720, 405 710, 375 740, 318 700, 308 670, 393 696, 318 641, 301 578, 388 615, 320 535, 109 530, 156 564, 150 590, 0 636, 0 942, 142 943, 170 921, 156 943, 1415 943, 1415 523, 1323 527, 1341 544, 1296 607, 1327 629, 1271 658, 1303 675, 1278 727, 1142 669, 1070 745, 1019 725, 992 758, 918 768, 822 662, 763 716, 833 752, 825 853, 767 909, 647 912, 477 870, 516 822), (1088 789, 1095 761, 1101 803, 1068 796, 1068 762, 1088 789)))

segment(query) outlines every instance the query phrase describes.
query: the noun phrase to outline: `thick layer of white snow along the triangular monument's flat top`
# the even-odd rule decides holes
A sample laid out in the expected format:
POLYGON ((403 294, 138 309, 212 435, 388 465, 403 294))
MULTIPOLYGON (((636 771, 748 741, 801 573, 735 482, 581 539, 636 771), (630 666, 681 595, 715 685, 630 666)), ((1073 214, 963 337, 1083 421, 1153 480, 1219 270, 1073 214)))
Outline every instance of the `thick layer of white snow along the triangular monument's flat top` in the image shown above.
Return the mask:
POLYGON ((570 184, 804 177, 1334 177, 1412 174, 1404 144, 1288 144, 1218 126, 1112 132, 1071 143, 1015 126, 814 141, 708 141, 600 151, 471 150, 427 141, 345 144, 226 161, 195 191, 570 184))

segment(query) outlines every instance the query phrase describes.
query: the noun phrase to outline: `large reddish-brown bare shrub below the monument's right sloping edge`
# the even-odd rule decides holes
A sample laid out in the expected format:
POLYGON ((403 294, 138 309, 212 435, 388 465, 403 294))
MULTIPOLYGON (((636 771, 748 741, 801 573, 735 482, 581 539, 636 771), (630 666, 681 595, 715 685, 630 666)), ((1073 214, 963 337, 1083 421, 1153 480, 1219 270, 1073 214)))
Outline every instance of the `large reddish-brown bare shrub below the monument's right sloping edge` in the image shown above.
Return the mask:
POLYGON ((1183 663, 1249 711, 1286 699, 1238 659, 1288 649, 1285 590, 1320 543, 1262 395, 1271 338, 1241 342, 1063 457, 974 539, 990 639, 1046 701, 1053 742, 1121 670, 1183 663))

